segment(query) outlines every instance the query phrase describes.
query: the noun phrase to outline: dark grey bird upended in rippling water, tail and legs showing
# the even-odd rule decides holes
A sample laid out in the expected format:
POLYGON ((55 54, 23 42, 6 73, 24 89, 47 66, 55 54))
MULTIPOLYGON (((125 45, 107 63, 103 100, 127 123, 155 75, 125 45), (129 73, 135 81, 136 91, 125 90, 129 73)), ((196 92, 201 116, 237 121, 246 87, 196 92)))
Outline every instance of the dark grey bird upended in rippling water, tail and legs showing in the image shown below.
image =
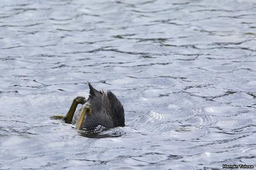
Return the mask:
POLYGON ((90 95, 88 99, 78 96, 73 99, 66 116, 53 116, 53 119, 63 119, 72 123, 76 129, 93 128, 99 125, 106 128, 125 126, 124 107, 111 91, 97 91, 88 82, 90 95), (81 108, 76 111, 78 104, 81 108))

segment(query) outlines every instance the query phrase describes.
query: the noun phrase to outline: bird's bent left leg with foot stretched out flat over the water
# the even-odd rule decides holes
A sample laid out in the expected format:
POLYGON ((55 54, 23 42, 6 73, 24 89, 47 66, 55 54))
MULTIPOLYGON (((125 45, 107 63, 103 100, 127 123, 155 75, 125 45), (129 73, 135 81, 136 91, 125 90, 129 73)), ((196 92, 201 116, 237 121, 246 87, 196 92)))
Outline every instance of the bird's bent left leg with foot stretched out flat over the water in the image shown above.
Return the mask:
POLYGON ((66 116, 52 116, 51 118, 53 118, 53 119, 62 119, 66 123, 71 123, 72 122, 72 118, 74 116, 74 113, 76 111, 77 105, 78 104, 85 104, 85 102, 86 102, 85 97, 77 96, 75 99, 73 99, 71 107, 68 110, 66 116))

